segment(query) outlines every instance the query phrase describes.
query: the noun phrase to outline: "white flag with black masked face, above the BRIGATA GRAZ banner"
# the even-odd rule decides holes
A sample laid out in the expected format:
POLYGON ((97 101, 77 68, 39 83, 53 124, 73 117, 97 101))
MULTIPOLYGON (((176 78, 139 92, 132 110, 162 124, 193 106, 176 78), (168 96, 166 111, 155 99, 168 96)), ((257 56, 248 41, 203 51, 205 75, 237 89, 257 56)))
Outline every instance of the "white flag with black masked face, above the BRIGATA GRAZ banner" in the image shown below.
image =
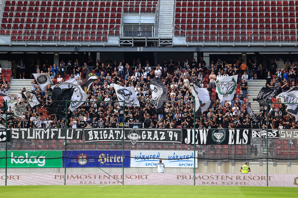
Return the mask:
POLYGON ((136 97, 134 87, 122 87, 117 84, 111 84, 111 86, 114 87, 116 91, 118 101, 125 101, 125 104, 128 106, 140 107, 140 102, 136 97))

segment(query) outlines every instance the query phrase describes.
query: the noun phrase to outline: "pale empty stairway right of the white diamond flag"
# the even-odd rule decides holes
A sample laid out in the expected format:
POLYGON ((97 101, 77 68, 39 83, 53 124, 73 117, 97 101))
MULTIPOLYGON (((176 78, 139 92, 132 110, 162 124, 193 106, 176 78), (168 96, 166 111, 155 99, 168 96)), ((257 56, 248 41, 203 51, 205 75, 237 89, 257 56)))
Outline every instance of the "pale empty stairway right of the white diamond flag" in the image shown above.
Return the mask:
MULTIPOLYGON (((248 80, 247 85, 247 98, 251 104, 251 108, 253 109, 254 114, 259 115, 260 105, 259 102, 253 101, 253 98, 256 98, 262 89, 265 87, 266 80, 248 80)), ((265 107, 266 108, 266 107, 265 107)))

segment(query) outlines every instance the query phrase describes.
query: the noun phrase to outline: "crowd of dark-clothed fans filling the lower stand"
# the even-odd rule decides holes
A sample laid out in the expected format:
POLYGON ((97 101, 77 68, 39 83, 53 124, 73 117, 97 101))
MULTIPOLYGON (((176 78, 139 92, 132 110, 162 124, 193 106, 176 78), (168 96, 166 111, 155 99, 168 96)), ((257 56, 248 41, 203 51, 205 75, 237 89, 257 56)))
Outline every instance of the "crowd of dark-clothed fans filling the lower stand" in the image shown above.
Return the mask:
MULTIPOLYGON (((144 128, 266 128, 266 118, 268 118, 268 128, 272 129, 297 129, 298 122, 295 117, 285 111, 285 105, 272 105, 266 115, 264 106, 260 107, 260 112, 255 112, 260 116, 261 122, 255 122, 247 112, 247 106, 251 105, 247 99, 247 80, 265 79, 267 87, 273 87, 278 83, 280 92, 289 90, 296 86, 298 75, 296 59, 291 64, 286 62, 286 69, 277 69, 274 60, 259 63, 256 59, 248 60, 245 63, 241 57, 233 62, 225 62, 218 59, 206 64, 203 57, 198 62, 185 58, 184 61, 172 59, 165 60, 161 64, 154 66, 147 60, 141 62, 140 59, 133 59, 127 62, 124 59, 120 63, 110 58, 106 62, 95 61, 92 56, 89 60, 81 64, 78 59, 75 61, 63 60, 51 65, 46 60, 41 63, 32 61, 26 67, 23 60, 12 62, 13 76, 20 78, 25 76, 25 72, 47 73, 55 83, 61 83, 71 78, 75 78, 78 84, 84 83, 87 70, 95 73, 99 78, 90 87, 87 94, 89 102, 82 104, 77 111, 68 111, 67 122, 65 116, 46 118, 41 120, 37 109, 29 108, 19 118, 12 118, 8 121, 12 128, 117 128, 118 123, 144 123, 144 128), (26 70, 25 70, 26 68, 26 70), (296 75, 297 73, 297 75, 296 75), (271 75, 272 74, 272 75, 271 75), (215 80, 218 76, 238 75, 237 92, 231 101, 220 101, 216 90, 215 80), (168 101, 164 102, 164 109, 156 112, 151 99, 150 79, 158 79, 165 85, 168 92, 168 101), (277 79, 277 80, 276 80, 277 79), (140 107, 130 107, 122 102, 117 102, 118 98, 113 87, 113 83, 134 87, 136 97, 140 102, 140 107), (202 112, 202 115, 194 116, 194 104, 192 93, 189 89, 190 83, 196 83, 198 87, 206 88, 210 98, 215 103, 212 107, 202 112), (116 102, 114 102, 116 101, 116 102)), ((32 78, 32 75, 29 75, 32 78)), ((264 85, 265 86, 265 85, 264 85)), ((50 86, 42 91, 35 80, 31 81, 31 91, 36 95, 41 106, 51 103, 50 86)), ((277 95, 277 94, 276 94, 277 95)), ((24 103, 24 102, 23 102, 24 103)), ((1 113, 5 113, 4 104, 0 107, 1 113)), ((13 109, 9 108, 8 113, 12 114, 13 109)), ((2 123, 5 124, 2 118, 2 123)))

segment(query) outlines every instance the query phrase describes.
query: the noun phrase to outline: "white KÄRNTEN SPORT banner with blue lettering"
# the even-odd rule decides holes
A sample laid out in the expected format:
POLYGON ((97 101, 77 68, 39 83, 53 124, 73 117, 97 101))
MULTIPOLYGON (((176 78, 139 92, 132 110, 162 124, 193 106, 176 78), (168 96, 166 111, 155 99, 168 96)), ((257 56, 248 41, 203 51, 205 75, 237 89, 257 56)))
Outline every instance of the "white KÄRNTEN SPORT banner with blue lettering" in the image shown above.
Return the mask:
MULTIPOLYGON (((130 157, 130 167, 156 167, 162 159, 165 168, 194 168, 194 152, 191 150, 131 150, 130 157)), ((198 168, 198 161, 195 161, 198 168)))

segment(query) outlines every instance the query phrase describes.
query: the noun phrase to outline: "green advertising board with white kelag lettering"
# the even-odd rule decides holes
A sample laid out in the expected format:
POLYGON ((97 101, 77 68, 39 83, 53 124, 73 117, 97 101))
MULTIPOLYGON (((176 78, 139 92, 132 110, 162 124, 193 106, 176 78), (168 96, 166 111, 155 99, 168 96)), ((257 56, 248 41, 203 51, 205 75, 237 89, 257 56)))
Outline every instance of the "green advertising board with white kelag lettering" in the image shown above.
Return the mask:
MULTIPOLYGON (((8 150, 7 157, 7 168, 62 168, 61 150, 8 150)), ((5 151, 0 151, 0 168, 5 168, 5 151)))

